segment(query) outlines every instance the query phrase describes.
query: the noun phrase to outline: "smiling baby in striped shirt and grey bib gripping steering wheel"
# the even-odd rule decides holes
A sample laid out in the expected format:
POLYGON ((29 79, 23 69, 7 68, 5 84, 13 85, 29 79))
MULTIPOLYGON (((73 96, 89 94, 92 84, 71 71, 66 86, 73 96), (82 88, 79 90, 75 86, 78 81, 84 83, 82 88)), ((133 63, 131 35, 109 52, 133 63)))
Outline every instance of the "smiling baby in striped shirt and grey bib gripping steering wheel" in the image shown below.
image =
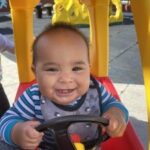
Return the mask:
MULTIPOLYGON (((7 146, 35 149, 46 141, 46 133, 38 132, 36 126, 48 119, 76 114, 103 116, 109 119, 103 129, 109 136, 123 135, 128 111, 91 76, 89 44, 80 31, 65 23, 48 25, 35 39, 32 50, 37 83, 24 91, 0 120, 0 136, 7 146)), ((82 127, 70 130, 80 134, 82 127)), ((81 138, 89 133, 97 135, 92 133, 95 131, 88 127, 84 132, 88 135, 81 134, 81 138)))

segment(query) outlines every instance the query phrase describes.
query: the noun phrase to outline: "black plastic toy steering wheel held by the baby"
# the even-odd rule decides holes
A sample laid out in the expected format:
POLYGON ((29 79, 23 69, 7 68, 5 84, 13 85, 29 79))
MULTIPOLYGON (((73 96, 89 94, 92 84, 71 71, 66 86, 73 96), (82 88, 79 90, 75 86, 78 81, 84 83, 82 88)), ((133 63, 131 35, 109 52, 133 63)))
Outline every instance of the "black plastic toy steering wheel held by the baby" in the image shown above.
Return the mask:
MULTIPOLYGON (((71 124, 81 123, 81 122, 82 123, 83 122, 95 123, 95 124, 99 125, 99 127, 101 127, 101 125, 107 126, 109 124, 109 121, 102 117, 95 117, 95 116, 88 116, 88 115, 70 115, 70 116, 57 117, 54 119, 50 119, 47 122, 36 127, 36 129, 39 132, 43 132, 45 130, 51 129, 55 136, 58 150, 75 150, 76 148, 75 148, 74 144, 71 142, 67 130, 71 124)), ((100 135, 101 135, 101 133, 100 133, 100 135)), ((109 138, 109 136, 107 134, 101 135, 94 142, 94 145, 96 145, 97 143, 101 143, 108 138, 109 138)), ((83 143, 83 144, 87 144, 87 147, 89 147, 88 142, 83 143)))

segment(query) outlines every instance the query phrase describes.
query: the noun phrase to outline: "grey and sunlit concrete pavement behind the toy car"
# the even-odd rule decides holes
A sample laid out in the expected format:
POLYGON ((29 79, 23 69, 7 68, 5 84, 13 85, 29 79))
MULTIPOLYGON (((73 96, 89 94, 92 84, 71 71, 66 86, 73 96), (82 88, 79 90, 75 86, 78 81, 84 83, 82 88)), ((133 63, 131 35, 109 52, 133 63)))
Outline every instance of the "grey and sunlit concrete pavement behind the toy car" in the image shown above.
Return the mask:
MULTIPOLYGON (((37 35, 44 25, 50 22, 46 14, 42 19, 34 17, 34 34, 37 35)), ((130 120, 145 150, 148 145, 147 106, 143 76, 140 63, 138 42, 131 13, 125 14, 122 24, 110 26, 109 76, 112 79, 122 102, 128 108, 130 120)), ((81 28, 88 36, 89 28, 81 28)), ((10 14, 0 14, 0 33, 13 40, 10 14)), ((5 91, 10 104, 14 102, 18 88, 18 74, 15 56, 5 52, 1 56, 5 91)), ((133 139, 134 140, 134 139, 133 139)))

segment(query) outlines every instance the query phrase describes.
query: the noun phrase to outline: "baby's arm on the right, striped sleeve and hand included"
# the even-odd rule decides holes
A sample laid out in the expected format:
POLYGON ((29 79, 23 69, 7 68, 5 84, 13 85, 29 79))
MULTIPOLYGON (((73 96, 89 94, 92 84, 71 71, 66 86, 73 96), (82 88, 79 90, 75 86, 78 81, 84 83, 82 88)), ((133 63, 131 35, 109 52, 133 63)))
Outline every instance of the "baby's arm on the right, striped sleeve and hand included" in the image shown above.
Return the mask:
POLYGON ((109 119, 109 126, 105 130, 111 137, 120 137, 127 126, 128 110, 121 102, 108 93, 103 85, 99 84, 99 87, 102 97, 102 116, 109 119))

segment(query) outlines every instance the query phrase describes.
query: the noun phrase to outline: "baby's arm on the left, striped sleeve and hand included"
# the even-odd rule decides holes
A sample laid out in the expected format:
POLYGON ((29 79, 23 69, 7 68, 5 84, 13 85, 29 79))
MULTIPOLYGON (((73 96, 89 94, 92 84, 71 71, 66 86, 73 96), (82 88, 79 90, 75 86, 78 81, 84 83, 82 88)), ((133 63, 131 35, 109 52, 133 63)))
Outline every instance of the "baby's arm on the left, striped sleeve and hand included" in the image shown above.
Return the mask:
POLYGON ((39 122, 29 121, 36 119, 34 111, 35 104, 33 101, 35 101, 35 99, 32 99, 31 90, 26 90, 13 107, 0 119, 0 137, 9 145, 24 147, 32 140, 32 146, 34 146, 37 145, 36 142, 38 143, 38 141, 40 141, 42 134, 36 132, 34 129, 39 122), (32 138, 29 140, 30 136, 32 138))

